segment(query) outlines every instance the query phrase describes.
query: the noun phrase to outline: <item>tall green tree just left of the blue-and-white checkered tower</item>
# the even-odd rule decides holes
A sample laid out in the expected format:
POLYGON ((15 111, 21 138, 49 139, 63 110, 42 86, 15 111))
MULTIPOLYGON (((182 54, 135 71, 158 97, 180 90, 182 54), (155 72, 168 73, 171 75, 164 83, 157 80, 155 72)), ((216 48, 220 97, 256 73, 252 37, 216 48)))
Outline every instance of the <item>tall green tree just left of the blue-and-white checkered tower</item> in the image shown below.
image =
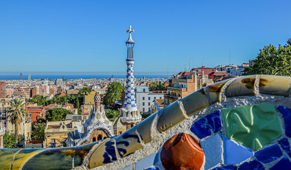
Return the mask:
POLYGON ((106 91, 105 94, 105 105, 111 106, 113 105, 114 101, 120 101, 121 100, 121 93, 125 90, 125 88, 118 82, 111 83, 106 91))

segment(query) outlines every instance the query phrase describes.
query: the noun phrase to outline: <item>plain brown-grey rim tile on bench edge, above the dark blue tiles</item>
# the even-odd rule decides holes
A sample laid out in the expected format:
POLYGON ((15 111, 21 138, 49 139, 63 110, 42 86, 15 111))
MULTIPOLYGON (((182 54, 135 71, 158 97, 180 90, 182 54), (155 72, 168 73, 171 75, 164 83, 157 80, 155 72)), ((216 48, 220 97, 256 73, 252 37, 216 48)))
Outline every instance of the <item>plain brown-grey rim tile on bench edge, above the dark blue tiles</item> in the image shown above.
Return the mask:
POLYGON ((210 105, 204 89, 199 89, 194 93, 181 99, 186 114, 188 116, 194 115, 196 112, 208 107, 210 105))

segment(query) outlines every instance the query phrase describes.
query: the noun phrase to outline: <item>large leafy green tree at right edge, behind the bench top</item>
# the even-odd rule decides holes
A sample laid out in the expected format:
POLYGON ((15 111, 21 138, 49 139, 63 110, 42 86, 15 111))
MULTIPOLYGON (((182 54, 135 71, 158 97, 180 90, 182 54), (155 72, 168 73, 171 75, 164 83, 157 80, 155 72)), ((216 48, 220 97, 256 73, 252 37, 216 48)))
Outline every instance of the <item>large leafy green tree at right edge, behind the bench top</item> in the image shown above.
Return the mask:
POLYGON ((268 74, 291 76, 291 46, 264 46, 254 60, 254 65, 245 68, 244 75, 268 74))

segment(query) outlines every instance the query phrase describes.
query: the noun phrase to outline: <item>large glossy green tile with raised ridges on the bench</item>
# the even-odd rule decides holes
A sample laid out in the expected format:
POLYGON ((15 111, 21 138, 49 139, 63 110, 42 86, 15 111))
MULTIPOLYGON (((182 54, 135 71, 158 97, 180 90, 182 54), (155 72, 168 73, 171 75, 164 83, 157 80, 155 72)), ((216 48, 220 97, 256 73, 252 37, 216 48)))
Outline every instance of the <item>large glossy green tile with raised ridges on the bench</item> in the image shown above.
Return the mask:
POLYGON ((226 135, 258 150, 282 135, 275 107, 270 103, 222 109, 226 135))

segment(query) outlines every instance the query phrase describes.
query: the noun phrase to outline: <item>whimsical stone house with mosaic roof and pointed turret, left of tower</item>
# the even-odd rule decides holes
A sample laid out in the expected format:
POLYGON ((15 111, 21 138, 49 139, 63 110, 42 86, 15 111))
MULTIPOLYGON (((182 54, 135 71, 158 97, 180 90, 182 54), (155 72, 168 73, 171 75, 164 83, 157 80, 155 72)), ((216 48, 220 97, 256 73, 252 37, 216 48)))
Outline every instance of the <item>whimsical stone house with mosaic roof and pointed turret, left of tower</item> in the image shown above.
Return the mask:
POLYGON ((76 124, 76 129, 67 134, 67 146, 79 146, 113 136, 112 122, 105 115, 104 105, 100 104, 101 96, 96 93, 94 100, 95 104, 87 121, 83 125, 76 124))

